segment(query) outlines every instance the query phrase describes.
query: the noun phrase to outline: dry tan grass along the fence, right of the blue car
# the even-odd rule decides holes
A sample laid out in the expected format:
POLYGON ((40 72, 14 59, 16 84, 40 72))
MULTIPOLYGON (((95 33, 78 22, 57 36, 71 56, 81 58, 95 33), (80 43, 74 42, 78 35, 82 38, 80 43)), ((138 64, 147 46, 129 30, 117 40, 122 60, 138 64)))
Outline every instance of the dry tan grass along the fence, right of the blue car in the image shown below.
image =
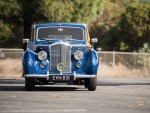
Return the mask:
POLYGON ((115 67, 100 64, 98 77, 150 77, 150 73, 146 67, 143 69, 130 69, 122 64, 118 64, 115 67))

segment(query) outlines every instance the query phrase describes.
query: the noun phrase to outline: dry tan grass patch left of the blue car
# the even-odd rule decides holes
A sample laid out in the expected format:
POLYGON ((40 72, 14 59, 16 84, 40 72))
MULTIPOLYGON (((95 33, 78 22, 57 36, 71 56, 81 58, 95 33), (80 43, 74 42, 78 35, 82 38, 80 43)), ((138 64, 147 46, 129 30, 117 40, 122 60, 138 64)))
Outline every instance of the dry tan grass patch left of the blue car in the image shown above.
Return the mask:
POLYGON ((21 59, 0 59, 0 77, 18 78, 22 76, 21 59))

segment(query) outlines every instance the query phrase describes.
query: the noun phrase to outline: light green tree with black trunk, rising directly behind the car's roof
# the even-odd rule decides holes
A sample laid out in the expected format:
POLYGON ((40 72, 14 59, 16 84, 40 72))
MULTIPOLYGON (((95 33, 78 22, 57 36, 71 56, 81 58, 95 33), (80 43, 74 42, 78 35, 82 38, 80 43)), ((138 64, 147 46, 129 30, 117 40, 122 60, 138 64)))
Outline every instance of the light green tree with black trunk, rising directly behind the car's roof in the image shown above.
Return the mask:
POLYGON ((23 0, 24 32, 30 38, 34 22, 90 23, 101 13, 103 0, 23 0))

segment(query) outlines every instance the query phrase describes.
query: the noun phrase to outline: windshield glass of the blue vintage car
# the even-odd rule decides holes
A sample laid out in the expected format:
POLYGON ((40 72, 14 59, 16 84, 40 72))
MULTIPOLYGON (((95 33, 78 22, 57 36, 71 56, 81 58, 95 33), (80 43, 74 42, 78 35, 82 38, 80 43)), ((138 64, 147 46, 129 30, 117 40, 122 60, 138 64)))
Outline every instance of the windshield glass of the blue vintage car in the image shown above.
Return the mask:
POLYGON ((43 27, 38 29, 38 39, 83 40, 83 29, 73 27, 43 27))

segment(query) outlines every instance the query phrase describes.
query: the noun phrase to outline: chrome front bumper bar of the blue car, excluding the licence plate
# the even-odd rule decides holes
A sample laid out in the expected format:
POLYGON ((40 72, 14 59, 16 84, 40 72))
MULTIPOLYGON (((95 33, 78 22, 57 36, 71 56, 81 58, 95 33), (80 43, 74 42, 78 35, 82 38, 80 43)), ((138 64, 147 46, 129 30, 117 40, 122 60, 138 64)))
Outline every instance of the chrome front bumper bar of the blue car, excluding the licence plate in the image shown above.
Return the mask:
POLYGON ((49 72, 47 72, 47 74, 26 74, 25 77, 27 78, 46 78, 47 80, 49 80, 50 76, 67 76, 67 75, 70 75, 70 76, 73 76, 74 77, 74 80, 78 79, 78 78, 94 78, 96 77, 97 75, 77 75, 76 73, 74 74, 49 74, 49 72))

